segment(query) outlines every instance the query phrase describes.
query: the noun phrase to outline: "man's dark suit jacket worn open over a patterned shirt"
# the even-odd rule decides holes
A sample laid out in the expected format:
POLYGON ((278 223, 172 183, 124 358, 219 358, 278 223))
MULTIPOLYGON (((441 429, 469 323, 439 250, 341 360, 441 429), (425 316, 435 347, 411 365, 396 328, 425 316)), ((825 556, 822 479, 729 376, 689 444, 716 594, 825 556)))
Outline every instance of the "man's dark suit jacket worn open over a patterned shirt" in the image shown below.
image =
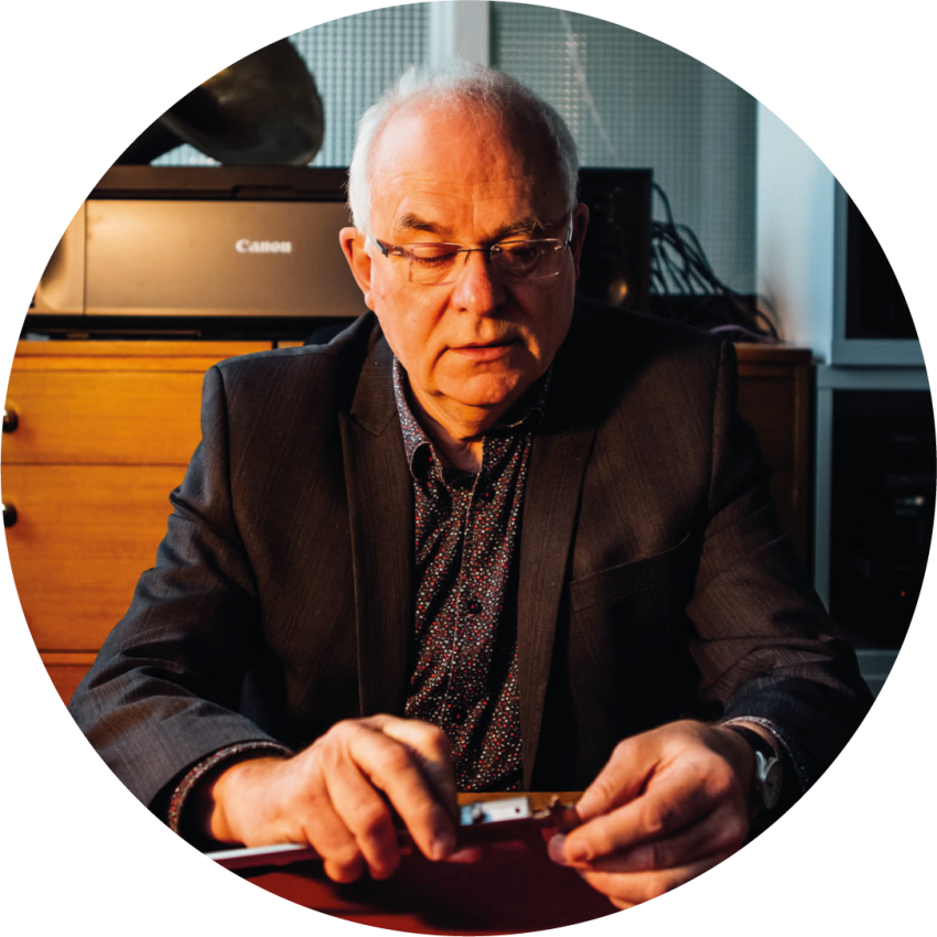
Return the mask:
MULTIPOLYGON (((246 740, 401 713, 412 482, 373 314, 212 368, 157 564, 69 711, 151 805, 246 740)), ((811 783, 871 706, 776 526, 731 344, 580 301, 525 493, 524 780, 581 789, 623 737, 763 717, 811 783)))

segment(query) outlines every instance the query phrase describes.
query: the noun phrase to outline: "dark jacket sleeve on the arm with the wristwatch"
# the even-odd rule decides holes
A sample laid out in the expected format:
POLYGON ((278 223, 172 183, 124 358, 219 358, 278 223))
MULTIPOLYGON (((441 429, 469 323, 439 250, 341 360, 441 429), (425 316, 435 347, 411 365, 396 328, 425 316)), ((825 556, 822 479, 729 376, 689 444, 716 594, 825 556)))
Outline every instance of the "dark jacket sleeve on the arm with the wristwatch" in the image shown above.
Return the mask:
POLYGON ((704 706, 771 723, 806 793, 873 699, 846 635, 807 583, 777 526, 757 440, 737 416, 734 347, 714 395, 708 524, 687 613, 704 706))

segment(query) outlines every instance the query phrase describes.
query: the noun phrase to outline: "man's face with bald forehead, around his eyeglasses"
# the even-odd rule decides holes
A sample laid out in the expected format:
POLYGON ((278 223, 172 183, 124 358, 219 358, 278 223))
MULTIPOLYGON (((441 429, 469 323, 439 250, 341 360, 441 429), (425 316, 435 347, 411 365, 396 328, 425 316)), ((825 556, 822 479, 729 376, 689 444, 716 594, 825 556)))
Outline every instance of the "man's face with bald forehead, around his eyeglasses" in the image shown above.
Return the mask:
POLYGON ((470 254, 460 255, 455 282, 423 286, 409 281, 406 259, 365 245, 366 233, 342 233, 368 308, 417 402, 437 419, 466 409, 497 419, 547 370, 572 316, 588 209, 568 212, 538 148, 525 153, 511 136, 457 111, 423 115, 411 106, 392 117, 376 143, 369 233, 386 245, 487 247, 566 240, 572 219, 573 247, 559 276, 507 281, 484 254, 470 254))

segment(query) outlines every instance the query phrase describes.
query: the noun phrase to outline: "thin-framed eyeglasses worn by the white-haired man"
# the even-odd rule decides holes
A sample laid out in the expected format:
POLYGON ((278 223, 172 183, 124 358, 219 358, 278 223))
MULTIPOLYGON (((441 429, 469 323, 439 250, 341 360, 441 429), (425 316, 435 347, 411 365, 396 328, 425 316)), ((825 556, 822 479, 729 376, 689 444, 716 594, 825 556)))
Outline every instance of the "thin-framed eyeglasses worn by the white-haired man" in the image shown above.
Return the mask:
POLYGON ((538 240, 504 240, 491 247, 463 247, 461 244, 384 244, 370 236, 385 257, 407 261, 411 283, 444 287, 454 283, 462 267, 457 259, 470 254, 484 254, 498 277, 505 280, 545 280, 556 277, 563 266, 563 254, 572 244, 572 222, 566 240, 548 237, 538 240))

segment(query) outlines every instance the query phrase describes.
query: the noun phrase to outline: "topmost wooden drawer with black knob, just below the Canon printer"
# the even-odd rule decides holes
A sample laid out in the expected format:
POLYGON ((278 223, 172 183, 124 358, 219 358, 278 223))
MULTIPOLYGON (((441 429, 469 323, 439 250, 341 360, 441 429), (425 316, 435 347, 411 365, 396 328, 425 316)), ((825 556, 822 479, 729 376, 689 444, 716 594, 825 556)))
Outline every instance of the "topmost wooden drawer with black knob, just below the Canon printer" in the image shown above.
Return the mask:
POLYGON ((202 373, 10 371, 17 413, 0 463, 186 465, 201 439, 202 373))

